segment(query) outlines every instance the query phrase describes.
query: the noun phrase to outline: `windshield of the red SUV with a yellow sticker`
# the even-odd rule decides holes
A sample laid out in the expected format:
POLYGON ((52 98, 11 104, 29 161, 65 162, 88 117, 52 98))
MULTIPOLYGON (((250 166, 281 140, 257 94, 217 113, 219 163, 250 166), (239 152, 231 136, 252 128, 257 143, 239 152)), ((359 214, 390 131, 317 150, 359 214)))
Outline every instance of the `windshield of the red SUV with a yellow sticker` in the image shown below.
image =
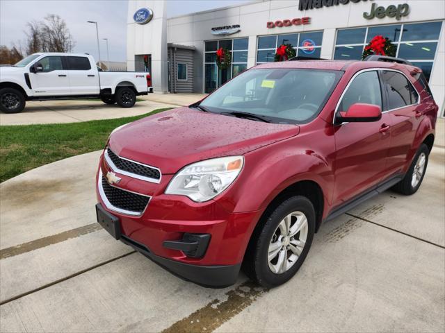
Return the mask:
POLYGON ((307 123, 334 89, 341 71, 251 69, 204 99, 210 112, 248 112, 274 123, 307 123))

